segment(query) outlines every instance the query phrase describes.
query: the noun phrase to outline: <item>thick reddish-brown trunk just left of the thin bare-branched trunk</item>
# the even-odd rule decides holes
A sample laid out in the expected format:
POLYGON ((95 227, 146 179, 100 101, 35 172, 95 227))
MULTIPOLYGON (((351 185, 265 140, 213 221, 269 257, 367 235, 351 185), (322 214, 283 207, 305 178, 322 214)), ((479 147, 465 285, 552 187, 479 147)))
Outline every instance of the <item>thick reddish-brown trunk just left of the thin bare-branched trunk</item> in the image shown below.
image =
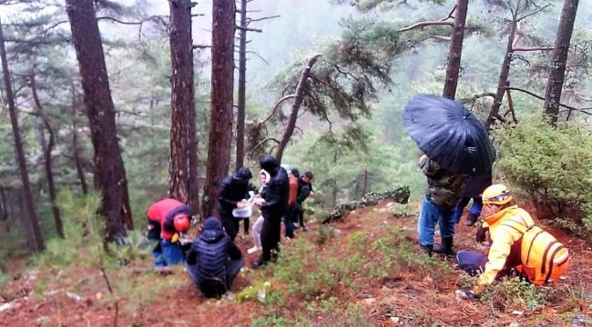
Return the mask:
POLYGON ((234 0, 214 0, 211 40, 211 110, 203 217, 217 213, 219 181, 228 173, 232 139, 234 0))

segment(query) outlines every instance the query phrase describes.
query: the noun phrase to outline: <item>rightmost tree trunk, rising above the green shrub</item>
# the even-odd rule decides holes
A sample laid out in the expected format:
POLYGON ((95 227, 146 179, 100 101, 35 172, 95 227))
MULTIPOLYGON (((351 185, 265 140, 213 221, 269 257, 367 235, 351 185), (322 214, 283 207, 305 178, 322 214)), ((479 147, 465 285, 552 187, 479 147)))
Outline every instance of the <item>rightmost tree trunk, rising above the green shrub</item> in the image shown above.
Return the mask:
POLYGON ((555 48, 553 50, 553 61, 551 71, 546 82, 545 114, 551 119, 551 124, 557 123, 559 115, 559 104, 561 103, 561 91, 566 74, 567 54, 569 52, 569 41, 574 31, 578 0, 564 0, 555 48))

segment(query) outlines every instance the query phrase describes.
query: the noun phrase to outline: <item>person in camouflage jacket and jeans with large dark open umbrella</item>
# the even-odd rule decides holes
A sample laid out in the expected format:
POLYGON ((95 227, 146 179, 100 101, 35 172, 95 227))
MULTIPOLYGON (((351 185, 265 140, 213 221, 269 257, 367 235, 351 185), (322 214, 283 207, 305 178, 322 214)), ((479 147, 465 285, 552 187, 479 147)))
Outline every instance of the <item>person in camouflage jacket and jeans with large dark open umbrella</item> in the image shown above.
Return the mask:
POLYGON ((428 255, 454 255, 454 208, 468 178, 491 173, 494 148, 485 126, 462 104, 419 94, 404 107, 403 124, 424 153, 419 166, 427 189, 417 223, 419 243, 428 255), (435 224, 442 245, 434 248, 435 224))

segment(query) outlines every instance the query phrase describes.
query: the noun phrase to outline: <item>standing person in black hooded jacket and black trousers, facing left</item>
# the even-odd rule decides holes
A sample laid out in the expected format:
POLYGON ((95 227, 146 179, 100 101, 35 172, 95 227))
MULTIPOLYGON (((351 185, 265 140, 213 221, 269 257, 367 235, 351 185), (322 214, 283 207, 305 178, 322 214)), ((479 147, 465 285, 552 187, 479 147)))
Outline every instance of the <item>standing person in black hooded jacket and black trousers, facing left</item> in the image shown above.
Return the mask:
POLYGON ((272 251, 276 253, 280 251, 281 216, 288 205, 288 174, 286 171, 270 154, 261 156, 260 167, 270 173, 270 182, 267 183, 263 197, 254 201, 256 205, 260 206, 264 219, 261 230, 263 253, 259 260, 252 263, 254 268, 275 259, 275 256, 272 256, 272 251))

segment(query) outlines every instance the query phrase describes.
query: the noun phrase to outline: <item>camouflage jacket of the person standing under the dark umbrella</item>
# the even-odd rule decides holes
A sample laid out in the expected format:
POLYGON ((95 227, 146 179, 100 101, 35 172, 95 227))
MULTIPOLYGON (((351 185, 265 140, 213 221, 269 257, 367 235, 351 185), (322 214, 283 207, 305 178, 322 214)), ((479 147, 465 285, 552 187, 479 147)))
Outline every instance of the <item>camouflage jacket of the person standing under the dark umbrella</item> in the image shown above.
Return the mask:
POLYGON ((419 159, 419 167, 427 177, 427 199, 439 208, 450 208, 456 205, 464 193, 467 176, 452 173, 425 154, 419 159))

